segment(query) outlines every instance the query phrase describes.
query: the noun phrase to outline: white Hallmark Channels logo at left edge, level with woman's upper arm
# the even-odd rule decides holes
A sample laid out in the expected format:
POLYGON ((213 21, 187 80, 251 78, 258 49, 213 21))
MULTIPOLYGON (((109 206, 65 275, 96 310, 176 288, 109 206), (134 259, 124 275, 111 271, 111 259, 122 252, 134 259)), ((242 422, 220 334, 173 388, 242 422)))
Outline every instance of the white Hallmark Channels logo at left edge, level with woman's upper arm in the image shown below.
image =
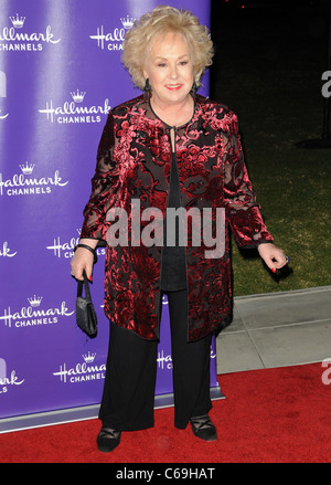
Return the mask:
POLYGON ((31 196, 51 193, 54 187, 65 187, 68 181, 63 182, 60 171, 55 170, 51 177, 35 177, 35 164, 26 161, 19 165, 20 173, 10 179, 4 179, 0 172, 0 196, 31 196))

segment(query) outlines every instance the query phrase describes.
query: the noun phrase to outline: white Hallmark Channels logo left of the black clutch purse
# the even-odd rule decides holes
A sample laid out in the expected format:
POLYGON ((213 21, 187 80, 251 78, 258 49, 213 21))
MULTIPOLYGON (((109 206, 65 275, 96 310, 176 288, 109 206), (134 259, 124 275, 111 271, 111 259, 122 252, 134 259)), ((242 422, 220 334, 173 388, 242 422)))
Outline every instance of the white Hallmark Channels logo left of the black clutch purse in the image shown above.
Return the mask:
POLYGON ((42 305, 43 296, 32 295, 26 298, 29 305, 18 310, 10 306, 0 314, 0 324, 3 321, 8 328, 42 327, 44 325, 58 324, 61 317, 71 317, 75 312, 70 312, 66 303, 57 306, 42 305))

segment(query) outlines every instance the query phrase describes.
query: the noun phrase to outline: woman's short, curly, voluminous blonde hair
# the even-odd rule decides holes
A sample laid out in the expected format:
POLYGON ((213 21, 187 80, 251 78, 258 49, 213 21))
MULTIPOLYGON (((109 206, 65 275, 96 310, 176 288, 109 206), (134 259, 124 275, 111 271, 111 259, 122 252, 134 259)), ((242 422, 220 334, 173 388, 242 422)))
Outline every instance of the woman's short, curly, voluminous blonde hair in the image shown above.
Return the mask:
POLYGON ((134 84, 143 89, 146 83, 143 65, 147 53, 152 48, 154 39, 168 32, 182 34, 190 45, 194 82, 199 87, 200 80, 205 68, 212 64, 214 54, 210 32, 189 10, 163 6, 145 13, 125 36, 121 61, 129 71, 134 84))

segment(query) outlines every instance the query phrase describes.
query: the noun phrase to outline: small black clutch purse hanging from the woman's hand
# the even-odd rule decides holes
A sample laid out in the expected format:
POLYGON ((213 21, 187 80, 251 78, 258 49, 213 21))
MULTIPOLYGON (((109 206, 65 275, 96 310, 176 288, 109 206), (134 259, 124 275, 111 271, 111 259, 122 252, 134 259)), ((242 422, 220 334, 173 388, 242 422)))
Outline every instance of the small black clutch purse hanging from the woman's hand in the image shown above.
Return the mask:
POLYGON ((76 298, 76 323, 78 327, 88 337, 93 338, 97 335, 97 317, 92 303, 88 280, 85 271, 83 272, 84 282, 78 281, 77 298, 76 298), (83 295, 83 285, 85 287, 85 297, 83 295))

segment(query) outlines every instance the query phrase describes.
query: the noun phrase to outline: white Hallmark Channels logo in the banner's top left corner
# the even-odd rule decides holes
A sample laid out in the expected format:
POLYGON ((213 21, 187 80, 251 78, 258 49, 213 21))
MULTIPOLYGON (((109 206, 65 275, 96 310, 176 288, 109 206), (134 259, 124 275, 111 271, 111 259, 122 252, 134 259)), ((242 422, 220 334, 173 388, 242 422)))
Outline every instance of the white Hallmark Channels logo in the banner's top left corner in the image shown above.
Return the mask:
POLYGON ((43 32, 26 32, 24 15, 9 17, 8 25, 0 29, 0 51, 42 51, 45 44, 57 44, 61 39, 54 39, 52 27, 46 25, 43 32))

